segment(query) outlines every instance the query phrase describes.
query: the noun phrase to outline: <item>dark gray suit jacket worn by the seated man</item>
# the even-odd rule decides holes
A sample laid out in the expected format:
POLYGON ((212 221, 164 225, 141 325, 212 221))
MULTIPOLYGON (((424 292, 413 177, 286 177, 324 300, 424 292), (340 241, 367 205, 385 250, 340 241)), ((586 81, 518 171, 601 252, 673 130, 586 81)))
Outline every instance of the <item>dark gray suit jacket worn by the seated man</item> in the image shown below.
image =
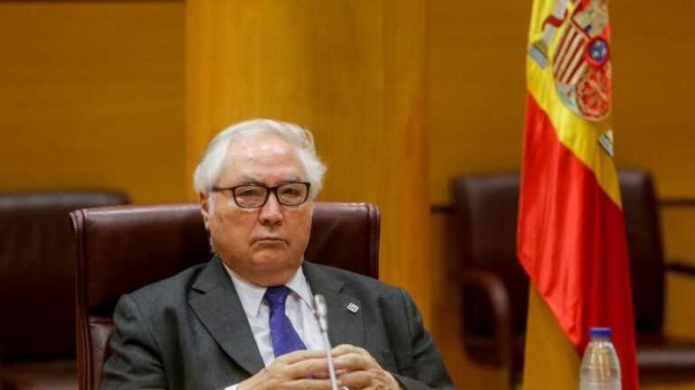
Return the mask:
MULTIPOLYGON (((304 262, 311 292, 328 304, 333 346, 366 348, 410 389, 452 388, 420 312, 402 289, 304 262), (348 305, 358 306, 357 312, 348 305)), ((215 389, 264 365, 231 278, 215 256, 124 295, 114 314, 102 388, 215 389)))

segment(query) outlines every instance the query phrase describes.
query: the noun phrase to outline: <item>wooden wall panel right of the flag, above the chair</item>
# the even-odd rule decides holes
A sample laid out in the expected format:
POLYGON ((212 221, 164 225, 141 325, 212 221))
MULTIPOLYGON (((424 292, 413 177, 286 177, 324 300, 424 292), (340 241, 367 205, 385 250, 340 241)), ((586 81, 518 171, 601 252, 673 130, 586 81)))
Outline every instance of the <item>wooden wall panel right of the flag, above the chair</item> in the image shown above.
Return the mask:
POLYGON ((695 3, 611 2, 616 162, 662 198, 695 197, 695 3))

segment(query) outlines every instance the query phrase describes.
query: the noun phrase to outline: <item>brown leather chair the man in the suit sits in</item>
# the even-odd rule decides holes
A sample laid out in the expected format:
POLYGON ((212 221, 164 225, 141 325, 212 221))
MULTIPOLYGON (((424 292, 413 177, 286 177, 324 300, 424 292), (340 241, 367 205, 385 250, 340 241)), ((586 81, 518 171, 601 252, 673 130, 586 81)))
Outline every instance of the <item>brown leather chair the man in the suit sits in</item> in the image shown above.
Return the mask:
MULTIPOLYGON (((198 203, 81 209, 77 245, 78 371, 81 389, 100 388, 119 297, 210 259, 198 203)), ((378 277, 379 210, 317 202, 306 258, 378 277)))

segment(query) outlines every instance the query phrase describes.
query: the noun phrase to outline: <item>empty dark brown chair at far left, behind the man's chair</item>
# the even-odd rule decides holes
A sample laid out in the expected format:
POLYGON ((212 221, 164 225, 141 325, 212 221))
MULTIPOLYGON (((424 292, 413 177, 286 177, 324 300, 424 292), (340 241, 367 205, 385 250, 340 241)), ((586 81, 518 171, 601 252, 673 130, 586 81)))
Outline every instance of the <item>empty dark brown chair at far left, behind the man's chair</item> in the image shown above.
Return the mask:
POLYGON ((0 387, 77 388, 68 213, 128 202, 109 190, 0 194, 0 387))

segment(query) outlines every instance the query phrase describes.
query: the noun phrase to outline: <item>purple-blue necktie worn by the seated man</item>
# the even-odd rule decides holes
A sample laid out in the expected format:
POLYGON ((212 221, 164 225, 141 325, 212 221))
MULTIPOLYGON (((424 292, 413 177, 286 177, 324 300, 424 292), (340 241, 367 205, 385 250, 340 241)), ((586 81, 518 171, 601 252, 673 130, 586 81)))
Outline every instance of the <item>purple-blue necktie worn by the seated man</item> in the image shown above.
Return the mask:
POLYGON ((285 301, 289 292, 290 289, 285 285, 268 287, 265 291, 265 299, 271 305, 271 339, 275 357, 306 349, 297 330, 294 330, 290 319, 285 315, 285 301))

